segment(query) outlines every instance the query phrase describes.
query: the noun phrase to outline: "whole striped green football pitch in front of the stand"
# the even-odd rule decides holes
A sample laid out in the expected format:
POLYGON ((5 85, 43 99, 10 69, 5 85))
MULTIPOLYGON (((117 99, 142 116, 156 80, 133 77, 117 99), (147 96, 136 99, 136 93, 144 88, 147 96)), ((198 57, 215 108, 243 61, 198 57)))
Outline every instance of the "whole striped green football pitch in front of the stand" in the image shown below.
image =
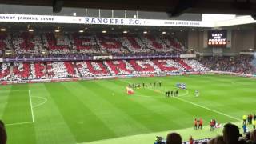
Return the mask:
POLYGON ((8 144, 154 143, 157 135, 177 131, 186 141, 210 138, 210 119, 237 123, 256 113, 256 79, 221 75, 119 78, 0 86, 0 119, 6 123, 8 144), (134 89, 129 83, 162 82, 134 89), (176 83, 186 83, 178 90, 176 83), (195 90, 200 96, 194 96, 195 90), (166 98, 165 91, 178 90, 166 98), (202 118, 202 130, 194 130, 202 118))

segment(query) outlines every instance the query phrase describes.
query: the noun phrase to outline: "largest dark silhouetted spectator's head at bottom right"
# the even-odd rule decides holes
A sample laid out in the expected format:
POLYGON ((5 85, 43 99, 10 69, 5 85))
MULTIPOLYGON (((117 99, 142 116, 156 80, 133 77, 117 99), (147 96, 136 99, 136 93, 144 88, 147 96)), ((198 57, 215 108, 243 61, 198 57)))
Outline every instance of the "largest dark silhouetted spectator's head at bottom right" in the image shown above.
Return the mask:
POLYGON ((234 124, 227 123, 223 128, 223 140, 226 144, 240 144, 239 129, 234 124))

